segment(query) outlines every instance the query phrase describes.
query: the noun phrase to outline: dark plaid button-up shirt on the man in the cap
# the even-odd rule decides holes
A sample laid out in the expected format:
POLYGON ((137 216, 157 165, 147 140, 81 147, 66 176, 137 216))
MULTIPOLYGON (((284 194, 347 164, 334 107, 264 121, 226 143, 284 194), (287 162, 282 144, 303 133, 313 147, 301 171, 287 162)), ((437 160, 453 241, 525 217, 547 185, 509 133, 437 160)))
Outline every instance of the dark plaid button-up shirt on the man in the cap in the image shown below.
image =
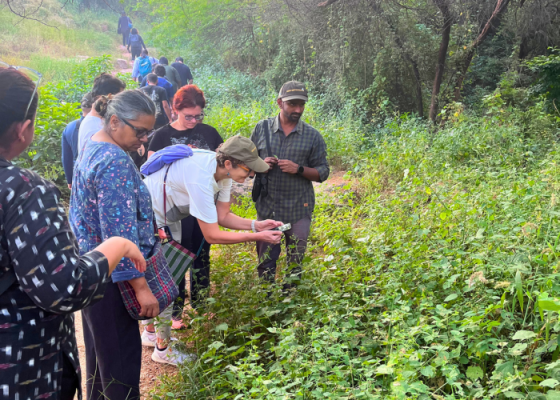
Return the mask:
MULTIPOLYGON (((304 167, 315 168, 321 182, 329 176, 327 146, 317 131, 301 119, 295 129, 286 136, 282 131, 279 116, 260 121, 251 135, 259 156, 264 160, 269 156, 266 149, 263 124, 268 121, 270 130, 271 157, 290 160, 304 167)), ((260 219, 273 218, 284 223, 295 223, 311 216, 315 207, 315 191, 307 178, 298 174, 288 174, 277 165, 268 172, 268 195, 255 203, 260 219)))

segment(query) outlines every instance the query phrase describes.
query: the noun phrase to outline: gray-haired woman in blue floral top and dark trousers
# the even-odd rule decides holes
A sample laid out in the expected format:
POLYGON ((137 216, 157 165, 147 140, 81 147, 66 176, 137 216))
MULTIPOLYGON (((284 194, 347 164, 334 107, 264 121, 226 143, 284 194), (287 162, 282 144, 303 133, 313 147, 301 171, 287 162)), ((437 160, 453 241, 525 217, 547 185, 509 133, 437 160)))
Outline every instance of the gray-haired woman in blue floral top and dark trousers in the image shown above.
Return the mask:
MULTIPOLYGON (((147 259, 154 238, 150 193, 127 152, 148 140, 156 108, 140 90, 103 96, 94 104, 104 119, 81 151, 75 166, 70 222, 85 254, 111 236, 135 243, 147 259)), ((121 260, 102 300, 82 311, 87 398, 139 399, 142 344, 138 321, 123 302, 117 282, 127 281, 142 307, 155 317, 159 304, 132 262, 121 260)))

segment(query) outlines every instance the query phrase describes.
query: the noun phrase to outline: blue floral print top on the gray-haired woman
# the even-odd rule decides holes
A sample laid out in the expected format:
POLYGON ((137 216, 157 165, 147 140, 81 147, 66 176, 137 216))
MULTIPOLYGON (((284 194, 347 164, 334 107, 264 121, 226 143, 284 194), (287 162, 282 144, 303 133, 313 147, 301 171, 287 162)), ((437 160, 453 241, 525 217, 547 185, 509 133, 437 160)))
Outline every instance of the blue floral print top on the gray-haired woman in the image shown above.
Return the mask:
MULTIPOLYGON (((155 246, 150 192, 129 155, 115 144, 89 140, 72 179, 70 224, 85 254, 112 236, 134 242, 144 258, 155 246)), ((123 258, 113 282, 143 277, 123 258)))

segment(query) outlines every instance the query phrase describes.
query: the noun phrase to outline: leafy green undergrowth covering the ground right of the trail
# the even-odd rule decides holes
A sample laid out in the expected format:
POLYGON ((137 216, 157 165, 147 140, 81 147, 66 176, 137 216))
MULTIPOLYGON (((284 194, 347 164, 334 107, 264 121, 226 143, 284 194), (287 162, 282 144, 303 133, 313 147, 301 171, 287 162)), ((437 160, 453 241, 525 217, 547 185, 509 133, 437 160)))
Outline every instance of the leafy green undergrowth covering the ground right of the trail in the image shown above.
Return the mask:
MULTIPOLYGON (((200 359, 153 397, 560 398, 557 122, 496 107, 358 144, 297 290, 259 282, 253 246, 220 246, 214 317, 185 338, 200 359)), ((235 212, 254 217, 248 198, 235 212)))

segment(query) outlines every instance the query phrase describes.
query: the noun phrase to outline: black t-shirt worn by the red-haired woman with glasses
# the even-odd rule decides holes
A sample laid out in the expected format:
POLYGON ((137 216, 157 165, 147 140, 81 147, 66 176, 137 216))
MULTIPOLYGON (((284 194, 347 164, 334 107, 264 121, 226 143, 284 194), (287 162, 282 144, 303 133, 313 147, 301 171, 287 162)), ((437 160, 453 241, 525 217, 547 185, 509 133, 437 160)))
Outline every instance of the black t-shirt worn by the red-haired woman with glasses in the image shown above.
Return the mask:
POLYGON ((218 131, 210 125, 199 123, 185 131, 166 125, 156 131, 148 151, 158 151, 174 144, 190 144, 198 149, 216 151, 223 142, 218 131))

